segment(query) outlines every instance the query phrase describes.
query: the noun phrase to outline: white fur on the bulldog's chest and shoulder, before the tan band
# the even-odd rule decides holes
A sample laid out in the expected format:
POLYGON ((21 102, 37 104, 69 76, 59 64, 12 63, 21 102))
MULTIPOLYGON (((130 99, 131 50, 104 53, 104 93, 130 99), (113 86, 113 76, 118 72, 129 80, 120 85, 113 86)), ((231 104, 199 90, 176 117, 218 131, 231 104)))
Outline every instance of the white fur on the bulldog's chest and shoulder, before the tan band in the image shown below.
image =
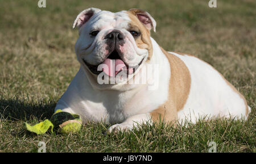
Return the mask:
POLYGON ((148 86, 152 85, 150 80, 153 77, 148 77, 148 84, 121 84, 122 88, 127 89, 125 91, 98 89, 90 84, 86 70, 81 66, 67 91, 61 96, 55 110, 77 113, 81 115, 84 123, 86 121, 121 123, 110 127, 109 131, 115 127, 130 129, 133 125, 137 125, 134 123, 150 121, 148 113, 167 100, 170 81, 170 64, 155 40, 151 38, 151 41, 154 47, 153 55, 150 62, 143 66, 159 64, 160 74, 154 77, 159 78, 156 90, 148 89, 148 86))

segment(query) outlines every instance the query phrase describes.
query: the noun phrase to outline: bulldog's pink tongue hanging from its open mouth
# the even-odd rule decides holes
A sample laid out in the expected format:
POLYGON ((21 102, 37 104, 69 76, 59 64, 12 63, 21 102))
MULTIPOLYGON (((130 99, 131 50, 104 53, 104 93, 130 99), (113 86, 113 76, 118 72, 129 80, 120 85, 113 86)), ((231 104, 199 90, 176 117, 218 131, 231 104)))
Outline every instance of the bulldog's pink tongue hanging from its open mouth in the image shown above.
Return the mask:
MULTIPOLYGON (((103 62, 103 64, 107 65, 108 68, 104 69, 104 73, 109 75, 110 77, 114 77, 120 70, 127 70, 125 63, 119 59, 109 59, 103 62)), ((129 69, 129 74, 133 72, 133 68, 129 69)))

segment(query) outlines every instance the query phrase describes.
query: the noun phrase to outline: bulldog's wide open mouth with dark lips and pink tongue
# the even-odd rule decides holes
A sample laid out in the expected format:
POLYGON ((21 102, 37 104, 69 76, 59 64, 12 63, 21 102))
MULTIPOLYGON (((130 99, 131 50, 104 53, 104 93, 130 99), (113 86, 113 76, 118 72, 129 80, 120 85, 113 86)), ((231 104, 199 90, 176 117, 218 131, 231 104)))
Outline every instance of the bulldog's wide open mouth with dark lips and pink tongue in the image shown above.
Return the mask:
POLYGON ((135 71, 139 68, 139 66, 142 64, 144 58, 142 58, 141 62, 137 66, 129 66, 127 65, 119 56, 118 52, 114 50, 112 53, 109 54, 109 56, 100 64, 98 65, 91 65, 88 62, 86 62, 84 59, 82 59, 85 63, 85 65, 88 67, 90 72, 93 74, 100 74, 101 72, 104 72, 106 75, 109 75, 109 77, 115 77, 119 73, 122 72, 125 73, 127 76, 130 74, 134 74, 135 71))

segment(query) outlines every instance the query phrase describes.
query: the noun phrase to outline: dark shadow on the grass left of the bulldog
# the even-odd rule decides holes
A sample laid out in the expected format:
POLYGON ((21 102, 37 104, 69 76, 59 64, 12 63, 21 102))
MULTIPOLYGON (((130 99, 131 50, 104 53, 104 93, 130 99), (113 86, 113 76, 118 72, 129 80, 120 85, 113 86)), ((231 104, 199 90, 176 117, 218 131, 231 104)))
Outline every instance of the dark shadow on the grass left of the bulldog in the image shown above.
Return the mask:
POLYGON ((21 100, 0 99, 0 118, 7 120, 23 120, 31 118, 38 120, 49 119, 54 112, 56 103, 39 101, 39 102, 22 102, 21 100))

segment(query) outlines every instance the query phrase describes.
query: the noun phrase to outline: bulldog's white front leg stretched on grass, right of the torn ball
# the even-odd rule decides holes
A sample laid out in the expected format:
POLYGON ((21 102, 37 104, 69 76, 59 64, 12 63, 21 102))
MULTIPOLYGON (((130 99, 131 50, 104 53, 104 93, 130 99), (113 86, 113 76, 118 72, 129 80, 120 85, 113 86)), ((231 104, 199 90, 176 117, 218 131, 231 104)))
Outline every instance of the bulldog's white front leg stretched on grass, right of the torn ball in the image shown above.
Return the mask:
POLYGON ((139 127, 142 124, 151 124, 151 115, 150 113, 143 113, 139 115, 134 115, 126 119, 121 124, 114 124, 112 125, 108 131, 117 132, 117 131, 126 131, 131 130, 133 128, 139 127))

